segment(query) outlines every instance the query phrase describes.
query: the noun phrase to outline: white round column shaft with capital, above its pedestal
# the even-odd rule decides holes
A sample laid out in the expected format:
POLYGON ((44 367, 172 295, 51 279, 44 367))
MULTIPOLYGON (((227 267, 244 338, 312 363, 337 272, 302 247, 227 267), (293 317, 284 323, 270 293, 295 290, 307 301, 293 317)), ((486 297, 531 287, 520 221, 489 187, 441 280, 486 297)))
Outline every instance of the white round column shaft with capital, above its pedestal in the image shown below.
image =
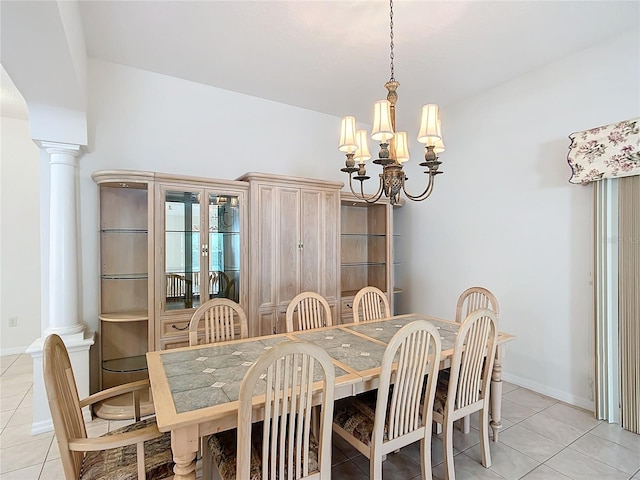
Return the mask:
POLYGON ((76 169, 79 145, 43 142, 51 156, 49 194, 49 326, 45 335, 81 334, 78 315, 76 169))

